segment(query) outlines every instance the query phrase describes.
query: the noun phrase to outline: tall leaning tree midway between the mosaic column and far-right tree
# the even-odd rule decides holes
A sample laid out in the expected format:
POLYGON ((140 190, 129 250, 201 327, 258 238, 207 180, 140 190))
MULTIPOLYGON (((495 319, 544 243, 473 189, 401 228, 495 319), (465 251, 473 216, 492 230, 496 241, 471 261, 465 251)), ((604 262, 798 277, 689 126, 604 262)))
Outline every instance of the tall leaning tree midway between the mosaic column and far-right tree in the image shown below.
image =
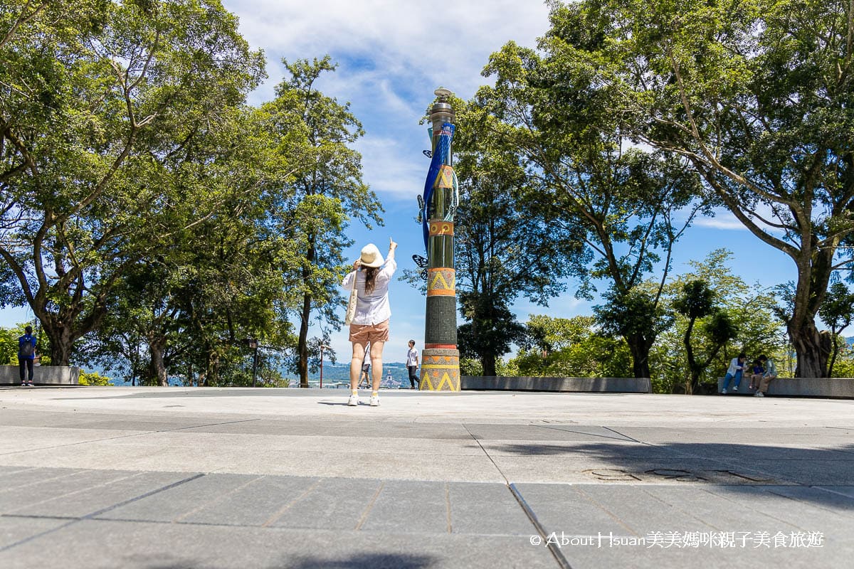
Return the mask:
MULTIPOLYGON (((699 177, 685 160, 632 148, 611 110, 620 103, 594 89, 593 69, 554 35, 540 47, 542 55, 511 42, 491 55, 484 74, 494 75, 495 86, 479 90, 477 104, 494 117, 488 127, 503 152, 518 155, 529 177, 526 199, 555 241, 583 243, 584 253, 565 261, 582 282, 577 295, 592 298, 596 282, 605 282, 601 314, 609 328, 641 301, 644 316, 657 317, 672 249, 702 205, 692 206, 699 177), (663 268, 657 290, 640 293, 656 266, 663 268)), ((635 377, 649 377, 658 324, 619 328, 635 377)))

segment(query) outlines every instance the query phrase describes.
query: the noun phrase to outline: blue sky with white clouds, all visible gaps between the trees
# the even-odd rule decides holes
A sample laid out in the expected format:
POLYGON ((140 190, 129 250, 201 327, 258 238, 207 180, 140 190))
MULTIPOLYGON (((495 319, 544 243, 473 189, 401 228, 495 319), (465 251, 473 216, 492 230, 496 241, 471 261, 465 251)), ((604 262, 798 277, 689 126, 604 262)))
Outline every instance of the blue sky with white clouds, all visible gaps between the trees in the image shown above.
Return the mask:
MULTIPOLYGON (((455 0, 448 3, 410 0, 225 0, 225 8, 240 19, 243 37, 254 49, 263 49, 269 78, 249 98, 260 104, 272 100, 273 88, 284 75, 282 58, 322 57, 339 65, 328 73, 319 89, 351 110, 365 127, 366 136, 356 148, 362 153, 364 180, 385 208, 385 225, 367 231, 353 225, 354 247, 349 258, 374 242, 385 253, 389 237, 400 244, 401 269, 412 268, 412 254, 424 254, 421 229, 414 218, 416 196, 424 187, 429 160, 421 151, 429 148, 426 128, 418 121, 430 105, 433 90, 443 86, 469 99, 488 82, 480 74, 489 54, 507 41, 535 47, 547 31, 548 11, 540 0, 455 0), (437 8, 437 6, 441 6, 437 8)), ((734 268, 747 282, 764 286, 792 280, 792 261, 750 234, 729 213, 699 218, 676 248, 673 270, 687 270, 687 262, 700 260, 719 247, 735 253, 734 268)), ((514 306, 522 322, 529 314, 576 316, 589 314, 590 303, 567 293, 553 299, 548 308, 519 299, 514 306)), ((343 291, 342 291, 343 295, 343 291)), ((393 316, 391 339, 385 359, 403 361, 407 340, 424 342, 424 296, 405 282, 390 291, 393 316)), ((0 311, 0 325, 32 318, 28 309, 0 311)), ((313 334, 318 334, 317 330, 313 334)), ((332 335, 338 361, 349 361, 346 330, 332 335)))

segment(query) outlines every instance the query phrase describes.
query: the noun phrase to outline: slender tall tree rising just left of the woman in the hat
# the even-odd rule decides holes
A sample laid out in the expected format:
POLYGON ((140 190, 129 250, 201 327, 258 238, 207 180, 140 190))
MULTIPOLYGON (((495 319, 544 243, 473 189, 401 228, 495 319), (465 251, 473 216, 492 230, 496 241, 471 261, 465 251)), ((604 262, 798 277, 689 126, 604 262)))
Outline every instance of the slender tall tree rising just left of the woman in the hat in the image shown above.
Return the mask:
MULTIPOLYGON (((290 77, 276 87, 276 99, 264 105, 269 113, 270 134, 283 156, 295 164, 287 199, 306 201, 317 208, 313 218, 284 233, 301 254, 301 307, 295 368, 300 386, 308 386, 308 328, 311 316, 320 316, 332 328, 340 328, 336 316, 338 286, 346 270, 344 247, 352 244, 346 229, 348 219, 356 219, 370 229, 382 224, 383 211, 377 196, 362 181, 361 154, 352 148, 364 134, 349 103, 341 104, 325 96, 316 83, 336 65, 329 55, 323 59, 283 60, 290 77)), ((291 207, 290 209, 292 209, 291 207)), ((287 209, 287 208, 285 208, 287 209)))

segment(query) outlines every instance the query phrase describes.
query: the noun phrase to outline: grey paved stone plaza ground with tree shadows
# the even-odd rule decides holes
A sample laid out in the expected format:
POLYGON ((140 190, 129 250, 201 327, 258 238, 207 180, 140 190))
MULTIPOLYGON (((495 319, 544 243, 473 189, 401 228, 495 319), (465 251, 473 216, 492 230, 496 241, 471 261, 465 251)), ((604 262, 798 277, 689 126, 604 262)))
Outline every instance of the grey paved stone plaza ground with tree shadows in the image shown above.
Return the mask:
POLYGON ((0 567, 842 567, 854 401, 0 389, 0 567))

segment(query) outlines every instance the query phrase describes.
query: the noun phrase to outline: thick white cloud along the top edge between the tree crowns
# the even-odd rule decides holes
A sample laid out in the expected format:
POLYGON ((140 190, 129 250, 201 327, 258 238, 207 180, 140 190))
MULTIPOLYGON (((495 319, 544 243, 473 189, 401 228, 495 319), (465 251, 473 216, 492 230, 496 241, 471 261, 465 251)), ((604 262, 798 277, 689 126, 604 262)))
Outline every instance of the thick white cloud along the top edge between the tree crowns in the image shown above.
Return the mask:
POLYGON ((443 82, 460 96, 483 82, 479 73, 502 44, 534 46, 548 14, 539 0, 458 0, 441 9, 411 0, 226 0, 225 7, 250 44, 277 61, 346 54, 389 76, 443 82))

